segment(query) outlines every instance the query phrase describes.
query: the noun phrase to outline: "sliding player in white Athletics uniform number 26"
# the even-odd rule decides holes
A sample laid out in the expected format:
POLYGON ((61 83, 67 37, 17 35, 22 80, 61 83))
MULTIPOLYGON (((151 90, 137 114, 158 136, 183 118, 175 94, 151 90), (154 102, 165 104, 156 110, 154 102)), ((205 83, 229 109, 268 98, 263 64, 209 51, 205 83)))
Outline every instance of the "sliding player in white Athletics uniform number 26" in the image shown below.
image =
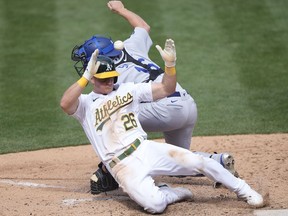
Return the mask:
MULTIPOLYGON (((253 207, 262 207, 262 196, 244 180, 236 178, 215 160, 171 144, 147 140, 139 121, 141 102, 167 97, 176 89, 176 49, 166 40, 164 50, 156 45, 165 62, 159 82, 122 83, 111 59, 96 49, 83 76, 61 99, 61 108, 76 118, 97 155, 132 200, 149 213, 162 213, 167 205, 192 198, 190 190, 155 185, 152 176, 203 174, 236 193, 253 207), (90 94, 83 94, 88 82, 90 94)), ((121 76, 119 76, 120 78, 121 76)))

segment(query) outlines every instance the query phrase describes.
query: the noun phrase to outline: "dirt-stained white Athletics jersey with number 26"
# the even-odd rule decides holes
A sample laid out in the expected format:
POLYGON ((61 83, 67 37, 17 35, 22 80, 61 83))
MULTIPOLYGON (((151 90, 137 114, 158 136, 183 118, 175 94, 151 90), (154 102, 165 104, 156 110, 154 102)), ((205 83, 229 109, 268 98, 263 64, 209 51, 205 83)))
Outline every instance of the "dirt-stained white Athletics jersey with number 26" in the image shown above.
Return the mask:
POLYGON ((101 161, 111 161, 135 139, 147 137, 137 117, 140 101, 152 101, 150 83, 125 83, 108 95, 92 91, 79 97, 73 117, 81 123, 101 161))

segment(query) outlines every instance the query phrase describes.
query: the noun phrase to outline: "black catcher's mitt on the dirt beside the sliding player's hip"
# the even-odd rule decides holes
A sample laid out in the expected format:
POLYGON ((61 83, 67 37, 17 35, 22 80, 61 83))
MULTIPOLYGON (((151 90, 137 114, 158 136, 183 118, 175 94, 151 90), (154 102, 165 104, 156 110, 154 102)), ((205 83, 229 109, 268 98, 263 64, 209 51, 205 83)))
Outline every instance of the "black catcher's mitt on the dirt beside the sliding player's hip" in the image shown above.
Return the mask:
POLYGON ((99 169, 90 178, 91 194, 95 195, 101 192, 116 190, 119 185, 113 176, 109 172, 102 170, 102 163, 98 167, 99 169))

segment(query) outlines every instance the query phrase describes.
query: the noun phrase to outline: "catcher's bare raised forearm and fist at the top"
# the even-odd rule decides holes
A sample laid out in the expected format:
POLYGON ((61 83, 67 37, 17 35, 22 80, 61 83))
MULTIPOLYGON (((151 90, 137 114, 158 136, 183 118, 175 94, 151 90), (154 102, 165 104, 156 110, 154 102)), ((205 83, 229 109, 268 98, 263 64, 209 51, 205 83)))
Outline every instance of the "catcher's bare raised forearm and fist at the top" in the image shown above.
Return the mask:
POLYGON ((125 8, 121 1, 109 1, 107 6, 112 12, 124 17, 133 28, 141 27, 146 29, 147 32, 150 31, 150 26, 145 22, 145 20, 136 13, 125 8))

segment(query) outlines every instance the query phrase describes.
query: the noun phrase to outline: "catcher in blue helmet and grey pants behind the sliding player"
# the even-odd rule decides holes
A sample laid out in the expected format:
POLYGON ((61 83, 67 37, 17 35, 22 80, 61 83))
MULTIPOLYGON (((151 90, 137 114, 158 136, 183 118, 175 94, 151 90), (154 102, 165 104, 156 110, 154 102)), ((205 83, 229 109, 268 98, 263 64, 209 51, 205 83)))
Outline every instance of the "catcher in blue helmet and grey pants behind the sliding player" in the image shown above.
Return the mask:
MULTIPOLYGON (((121 1, 109 1, 107 6, 125 18, 134 31, 124 44, 116 43, 118 50, 114 48, 110 38, 100 35, 91 37, 81 46, 76 46, 72 51, 72 59, 76 61, 75 69, 78 74, 82 76, 92 53, 98 49, 101 55, 113 59, 116 71, 121 74, 118 84, 161 82, 164 71, 148 56, 152 45, 149 36, 150 26, 139 15, 125 8, 121 1)), ((197 107, 194 99, 179 83, 176 84, 176 91, 167 97, 141 103, 139 111, 139 121, 146 132, 161 131, 165 142, 190 149, 192 132, 197 120, 197 107)), ((232 155, 197 153, 215 159, 237 176, 232 155)), ((118 188, 117 182, 107 173, 105 167, 102 164, 99 167, 91 177, 91 193, 98 194, 118 188)))

